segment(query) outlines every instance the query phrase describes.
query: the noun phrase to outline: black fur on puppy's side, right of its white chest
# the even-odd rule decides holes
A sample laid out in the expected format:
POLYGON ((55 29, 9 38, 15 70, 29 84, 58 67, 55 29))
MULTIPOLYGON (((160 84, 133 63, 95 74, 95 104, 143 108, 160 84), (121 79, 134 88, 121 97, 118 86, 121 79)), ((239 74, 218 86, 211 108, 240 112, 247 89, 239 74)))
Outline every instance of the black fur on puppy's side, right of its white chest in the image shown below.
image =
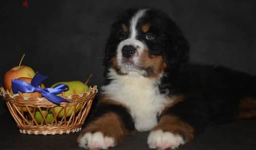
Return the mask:
POLYGON ((242 98, 254 97, 255 77, 222 66, 188 64, 178 72, 166 72, 168 83, 162 90, 169 95, 184 95, 185 100, 168 109, 191 124, 197 133, 209 123, 225 123, 236 119, 242 98), (175 73, 175 74, 174 74, 175 73))

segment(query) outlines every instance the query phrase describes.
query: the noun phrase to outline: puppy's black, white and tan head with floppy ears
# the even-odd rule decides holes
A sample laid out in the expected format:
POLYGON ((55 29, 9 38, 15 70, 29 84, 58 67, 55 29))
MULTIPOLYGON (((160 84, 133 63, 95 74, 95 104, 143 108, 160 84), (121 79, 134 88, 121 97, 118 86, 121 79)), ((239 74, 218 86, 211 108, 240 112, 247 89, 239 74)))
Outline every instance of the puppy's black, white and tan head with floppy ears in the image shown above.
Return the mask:
POLYGON ((188 60, 189 45, 176 23, 155 9, 130 9, 113 23, 106 65, 119 74, 158 76, 188 60))

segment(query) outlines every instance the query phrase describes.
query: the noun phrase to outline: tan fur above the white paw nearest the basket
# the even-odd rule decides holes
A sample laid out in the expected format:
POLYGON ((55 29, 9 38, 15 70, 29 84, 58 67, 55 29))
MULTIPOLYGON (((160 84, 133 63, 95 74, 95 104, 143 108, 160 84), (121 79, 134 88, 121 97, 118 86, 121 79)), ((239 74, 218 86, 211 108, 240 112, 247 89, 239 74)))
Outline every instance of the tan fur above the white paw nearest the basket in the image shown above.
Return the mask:
POLYGON ((124 124, 117 114, 109 112, 84 127, 78 137, 78 141, 87 132, 94 133, 98 131, 102 132, 104 136, 115 138, 117 143, 120 142, 124 136, 131 133, 131 131, 125 129, 124 124))

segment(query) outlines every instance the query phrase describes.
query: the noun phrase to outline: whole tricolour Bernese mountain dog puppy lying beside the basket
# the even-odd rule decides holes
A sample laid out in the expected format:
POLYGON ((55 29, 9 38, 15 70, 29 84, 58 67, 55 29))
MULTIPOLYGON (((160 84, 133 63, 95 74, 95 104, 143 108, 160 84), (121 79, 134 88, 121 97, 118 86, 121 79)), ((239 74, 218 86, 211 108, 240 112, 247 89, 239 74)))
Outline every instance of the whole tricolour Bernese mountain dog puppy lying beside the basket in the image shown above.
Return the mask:
POLYGON ((156 9, 129 9, 113 23, 106 46, 107 83, 77 138, 107 149, 134 131, 149 148, 177 148, 210 123, 256 116, 256 77, 218 65, 190 64, 178 25, 156 9))

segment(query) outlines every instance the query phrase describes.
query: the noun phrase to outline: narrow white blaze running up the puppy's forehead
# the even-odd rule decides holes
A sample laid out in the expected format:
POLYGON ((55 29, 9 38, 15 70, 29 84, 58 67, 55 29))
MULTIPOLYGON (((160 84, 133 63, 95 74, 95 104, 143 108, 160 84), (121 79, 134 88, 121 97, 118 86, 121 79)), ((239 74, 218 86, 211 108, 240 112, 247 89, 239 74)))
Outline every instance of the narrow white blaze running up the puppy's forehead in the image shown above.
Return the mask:
POLYGON ((141 18, 145 14, 146 9, 140 9, 138 10, 134 16, 131 18, 130 21, 130 38, 135 38, 137 35, 136 25, 138 23, 139 18, 141 18))

